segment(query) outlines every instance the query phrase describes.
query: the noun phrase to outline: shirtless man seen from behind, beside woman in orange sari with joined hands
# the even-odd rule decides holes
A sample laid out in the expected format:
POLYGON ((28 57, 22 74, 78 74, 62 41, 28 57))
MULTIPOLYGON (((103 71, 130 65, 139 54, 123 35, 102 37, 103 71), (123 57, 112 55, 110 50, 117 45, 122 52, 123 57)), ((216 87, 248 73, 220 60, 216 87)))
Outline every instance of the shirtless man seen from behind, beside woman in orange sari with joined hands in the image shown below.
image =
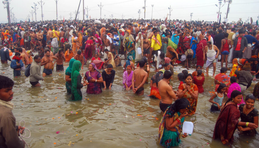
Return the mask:
POLYGON ((159 107, 164 113, 168 106, 172 105, 173 99, 176 99, 176 91, 169 85, 169 80, 172 77, 171 71, 165 71, 163 79, 158 82, 158 91, 161 96, 159 107))

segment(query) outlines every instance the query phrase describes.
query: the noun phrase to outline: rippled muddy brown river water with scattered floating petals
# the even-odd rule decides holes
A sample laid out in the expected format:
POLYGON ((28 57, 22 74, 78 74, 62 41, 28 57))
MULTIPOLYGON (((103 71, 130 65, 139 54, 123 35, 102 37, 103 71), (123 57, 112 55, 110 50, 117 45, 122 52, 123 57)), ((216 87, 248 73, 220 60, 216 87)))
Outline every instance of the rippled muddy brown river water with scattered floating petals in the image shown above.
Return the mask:
MULTIPOLYGON (((64 63, 66 69, 68 63, 64 63)), ((29 77, 13 77, 10 62, 0 65, 0 73, 14 80, 15 104, 13 114, 16 123, 26 121, 31 137, 25 139, 30 147, 162 147, 158 143, 158 126, 162 114, 159 101, 149 98, 150 87, 145 84, 144 96, 136 96, 126 91, 122 85, 123 68, 116 67, 112 90, 89 95, 86 87, 81 89, 83 99, 71 101, 65 87, 65 73, 56 72, 40 81, 41 87, 31 87, 29 77), (59 134, 57 132, 59 131, 59 134)), ((43 67, 41 68, 41 73, 43 67)), ((88 71, 88 64, 80 71, 88 71)), ((149 82, 155 73, 151 69, 149 82)), ((177 90, 177 74, 170 83, 177 90)), ((186 121, 194 123, 192 136, 182 138, 179 147, 229 147, 220 140, 213 140, 213 130, 219 113, 211 113, 209 91, 215 90, 214 79, 205 78, 204 93, 198 94, 195 115, 186 121)), ((251 94, 254 84, 246 91, 251 94)), ((224 98, 225 102, 227 97, 224 98)), ((259 109, 258 100, 255 108, 259 109)), ((257 129, 258 131, 258 129, 257 129)), ((232 147, 257 147, 259 136, 239 136, 234 134, 232 147)))

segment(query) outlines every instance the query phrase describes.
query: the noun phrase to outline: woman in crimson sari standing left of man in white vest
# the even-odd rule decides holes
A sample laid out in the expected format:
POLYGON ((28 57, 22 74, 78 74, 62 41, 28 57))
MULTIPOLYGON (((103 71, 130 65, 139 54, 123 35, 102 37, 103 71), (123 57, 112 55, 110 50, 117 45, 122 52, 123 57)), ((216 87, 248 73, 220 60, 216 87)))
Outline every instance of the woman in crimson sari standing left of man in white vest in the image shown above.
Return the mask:
POLYGON ((203 69, 204 61, 203 61, 203 50, 207 46, 207 39, 203 38, 197 45, 196 56, 197 56, 197 65, 201 65, 201 69, 203 69))

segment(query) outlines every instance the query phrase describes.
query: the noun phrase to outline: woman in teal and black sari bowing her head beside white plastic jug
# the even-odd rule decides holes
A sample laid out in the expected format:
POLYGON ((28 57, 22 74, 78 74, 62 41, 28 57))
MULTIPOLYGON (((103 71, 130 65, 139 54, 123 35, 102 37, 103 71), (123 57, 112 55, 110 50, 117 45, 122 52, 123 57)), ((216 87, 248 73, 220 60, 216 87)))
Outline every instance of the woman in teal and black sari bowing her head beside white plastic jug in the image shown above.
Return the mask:
MULTIPOLYGON (((159 144, 166 147, 178 146, 181 142, 180 134, 183 128, 183 122, 190 103, 186 98, 177 99, 164 112, 158 129, 159 144)), ((183 138, 187 137, 187 133, 183 133, 183 138)))

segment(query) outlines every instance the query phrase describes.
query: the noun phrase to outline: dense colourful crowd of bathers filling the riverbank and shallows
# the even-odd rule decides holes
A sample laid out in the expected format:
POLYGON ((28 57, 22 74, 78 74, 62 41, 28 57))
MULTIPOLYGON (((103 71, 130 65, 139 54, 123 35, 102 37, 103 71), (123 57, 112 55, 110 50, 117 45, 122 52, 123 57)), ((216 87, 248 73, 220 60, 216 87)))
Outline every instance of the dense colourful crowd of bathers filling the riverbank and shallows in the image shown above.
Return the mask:
MULTIPOLYGON (((119 66, 124 68, 121 86, 126 91, 143 95, 144 84, 150 83, 149 96, 161 99, 159 107, 163 118, 159 126, 159 143, 163 146, 180 143, 183 121, 186 115, 195 114, 198 94, 204 92, 204 76, 209 76, 211 67, 216 87, 208 101, 212 103, 211 112, 220 112, 213 138, 221 139, 223 144, 231 143, 237 128, 240 134, 257 134, 258 111, 253 106, 259 98, 259 82, 255 84, 253 94, 243 100, 246 89, 259 78, 259 27, 254 23, 52 20, 0 24, 0 27, 1 63, 11 61, 14 77, 24 71, 33 87, 40 87, 39 81, 53 73, 55 63, 57 72, 64 71, 64 62, 69 62, 64 85, 75 101, 82 99, 81 88, 85 86, 87 94, 112 90, 117 74, 114 68, 119 66), (219 60, 221 69, 216 74, 219 60), (228 63, 233 64, 229 75, 226 74, 228 63), (196 69, 192 74, 187 70, 177 74, 179 87, 173 90, 170 82, 178 83, 171 80, 176 64, 187 70, 196 65, 196 69), (42 75, 41 66, 44 66, 42 75), (82 82, 80 71, 86 67, 88 71, 82 82), (153 69, 156 74, 149 80, 153 69), (225 103, 224 96, 229 98, 225 103)), ((0 108, 11 109, 14 82, 5 76, 0 76, 0 82, 0 108), (4 91, 8 94, 2 94, 4 91)), ((1 123, 3 118, 0 114, 1 123)), ((10 130, 14 131, 15 127, 10 130)), ((2 128, 0 133, 0 141, 5 141, 0 147, 11 146, 13 143, 7 138, 12 137, 6 137, 2 128)), ((183 133, 182 137, 187 134, 183 133)))

